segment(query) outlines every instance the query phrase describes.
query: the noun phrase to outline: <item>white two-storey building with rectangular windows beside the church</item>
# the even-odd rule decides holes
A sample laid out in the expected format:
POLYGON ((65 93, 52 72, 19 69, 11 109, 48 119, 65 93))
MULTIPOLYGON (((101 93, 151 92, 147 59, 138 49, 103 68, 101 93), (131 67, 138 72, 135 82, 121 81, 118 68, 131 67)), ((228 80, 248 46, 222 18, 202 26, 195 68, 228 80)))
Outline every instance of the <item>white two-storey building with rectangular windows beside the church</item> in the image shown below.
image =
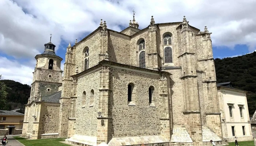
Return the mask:
POLYGON ((246 92, 244 90, 232 88, 231 82, 217 84, 219 107, 221 110, 223 141, 234 141, 234 136, 238 141, 253 140, 246 92))

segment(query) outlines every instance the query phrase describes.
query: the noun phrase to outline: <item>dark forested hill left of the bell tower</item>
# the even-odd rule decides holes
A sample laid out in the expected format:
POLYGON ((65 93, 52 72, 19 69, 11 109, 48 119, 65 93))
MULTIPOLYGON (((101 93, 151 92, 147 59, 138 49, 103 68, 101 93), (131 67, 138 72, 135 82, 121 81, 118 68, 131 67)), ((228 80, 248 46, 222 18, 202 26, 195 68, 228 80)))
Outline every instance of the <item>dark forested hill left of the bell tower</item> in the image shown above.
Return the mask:
POLYGON ((21 84, 13 80, 0 80, 8 87, 7 89, 7 106, 5 110, 15 110, 18 108, 24 108, 24 104, 27 104, 27 100, 30 97, 31 87, 27 84, 21 84))

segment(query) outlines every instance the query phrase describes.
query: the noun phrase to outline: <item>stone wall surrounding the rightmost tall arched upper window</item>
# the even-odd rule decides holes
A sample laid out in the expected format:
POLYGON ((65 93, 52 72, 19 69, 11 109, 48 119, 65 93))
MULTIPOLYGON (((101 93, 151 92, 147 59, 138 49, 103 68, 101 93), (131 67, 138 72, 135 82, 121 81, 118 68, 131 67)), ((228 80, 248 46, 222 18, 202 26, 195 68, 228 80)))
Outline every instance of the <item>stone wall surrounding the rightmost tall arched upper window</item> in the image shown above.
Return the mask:
MULTIPOLYGON (((161 25, 161 26, 159 26, 159 30, 160 30, 160 46, 159 46, 159 48, 160 48, 160 56, 163 58, 163 55, 164 55, 164 53, 163 53, 163 49, 164 49, 164 46, 163 46, 163 35, 166 33, 166 32, 169 32, 169 33, 171 33, 172 34, 172 50, 173 50, 173 63, 174 63, 174 66, 179 66, 179 64, 178 64, 178 37, 180 37, 180 36, 178 36, 178 34, 177 34, 177 30, 176 30, 176 28, 177 28, 177 24, 173 24, 173 25, 161 25)), ((163 61, 162 61, 163 62, 163 61)))

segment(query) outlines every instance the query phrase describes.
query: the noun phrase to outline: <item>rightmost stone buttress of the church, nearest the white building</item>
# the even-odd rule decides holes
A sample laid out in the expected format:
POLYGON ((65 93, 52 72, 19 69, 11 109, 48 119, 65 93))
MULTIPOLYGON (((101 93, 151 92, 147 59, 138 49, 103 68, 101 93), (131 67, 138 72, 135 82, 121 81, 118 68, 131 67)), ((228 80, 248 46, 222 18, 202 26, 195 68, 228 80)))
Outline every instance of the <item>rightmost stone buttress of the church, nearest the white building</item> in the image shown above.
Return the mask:
POLYGON ((219 111, 219 100, 216 86, 216 73, 214 58, 212 53, 211 33, 207 27, 204 32, 197 35, 197 40, 201 46, 198 51, 198 66, 203 71, 203 95, 204 95, 204 116, 202 125, 207 126, 219 138, 222 138, 221 117, 219 111))

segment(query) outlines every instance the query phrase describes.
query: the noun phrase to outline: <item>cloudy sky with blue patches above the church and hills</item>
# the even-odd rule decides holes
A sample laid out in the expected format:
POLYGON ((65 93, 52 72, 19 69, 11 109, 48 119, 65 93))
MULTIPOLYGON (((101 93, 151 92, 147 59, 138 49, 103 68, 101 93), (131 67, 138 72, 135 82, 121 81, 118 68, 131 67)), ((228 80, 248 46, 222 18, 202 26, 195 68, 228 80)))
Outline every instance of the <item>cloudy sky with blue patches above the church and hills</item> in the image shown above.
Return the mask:
MULTIPOLYGON (((181 22, 212 32, 214 58, 233 57, 256 49, 256 0, 0 0, 0 74, 31 84, 35 55, 44 44, 56 45, 65 58, 74 45, 94 31, 100 19, 108 28, 128 27, 134 9, 140 29, 150 23, 181 22)), ((63 69, 62 62, 62 69, 63 69)))

